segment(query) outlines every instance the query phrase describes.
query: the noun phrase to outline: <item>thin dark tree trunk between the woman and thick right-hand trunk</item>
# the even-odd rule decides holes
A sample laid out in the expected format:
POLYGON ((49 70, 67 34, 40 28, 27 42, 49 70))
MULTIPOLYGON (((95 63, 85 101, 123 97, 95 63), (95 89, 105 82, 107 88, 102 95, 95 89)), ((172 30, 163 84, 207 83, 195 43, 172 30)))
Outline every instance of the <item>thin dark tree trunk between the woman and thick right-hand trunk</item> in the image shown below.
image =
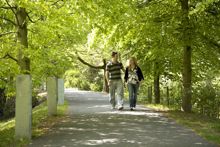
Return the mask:
POLYGON ((160 74, 159 74, 159 63, 155 63, 155 73, 154 73, 154 96, 155 96, 155 103, 160 104, 160 74))

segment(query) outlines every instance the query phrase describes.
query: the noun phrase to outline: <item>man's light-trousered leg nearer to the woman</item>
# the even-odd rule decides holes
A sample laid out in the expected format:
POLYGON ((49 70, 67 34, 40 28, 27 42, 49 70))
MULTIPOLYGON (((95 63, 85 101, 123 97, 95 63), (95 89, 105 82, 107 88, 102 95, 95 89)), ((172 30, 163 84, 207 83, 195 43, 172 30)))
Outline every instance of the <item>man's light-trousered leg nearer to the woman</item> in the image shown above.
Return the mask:
POLYGON ((124 99, 124 87, 122 80, 118 80, 116 83, 116 92, 117 92, 117 102, 118 102, 118 109, 123 109, 123 99, 124 99))

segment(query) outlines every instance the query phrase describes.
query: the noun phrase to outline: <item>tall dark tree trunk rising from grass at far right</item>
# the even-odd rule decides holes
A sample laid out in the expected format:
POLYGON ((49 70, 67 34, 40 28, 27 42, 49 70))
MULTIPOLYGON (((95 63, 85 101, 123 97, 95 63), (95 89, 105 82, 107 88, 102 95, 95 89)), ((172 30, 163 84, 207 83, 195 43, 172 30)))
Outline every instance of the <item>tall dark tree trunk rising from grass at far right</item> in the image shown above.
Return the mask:
POLYGON ((182 6, 182 27, 183 27, 183 97, 182 108, 185 112, 192 111, 192 65, 191 65, 191 28, 189 21, 189 4, 188 0, 181 0, 182 6))

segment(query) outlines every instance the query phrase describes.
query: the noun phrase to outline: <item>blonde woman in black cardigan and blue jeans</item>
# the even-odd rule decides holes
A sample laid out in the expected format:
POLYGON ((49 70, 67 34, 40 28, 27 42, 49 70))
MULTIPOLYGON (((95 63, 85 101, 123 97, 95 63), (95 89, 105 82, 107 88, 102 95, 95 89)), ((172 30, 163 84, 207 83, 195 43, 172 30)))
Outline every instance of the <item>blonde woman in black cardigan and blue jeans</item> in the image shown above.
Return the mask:
POLYGON ((128 85, 129 102, 131 111, 136 107, 137 93, 144 76, 140 67, 137 65, 137 61, 134 57, 129 59, 129 65, 125 70, 125 82, 128 85))

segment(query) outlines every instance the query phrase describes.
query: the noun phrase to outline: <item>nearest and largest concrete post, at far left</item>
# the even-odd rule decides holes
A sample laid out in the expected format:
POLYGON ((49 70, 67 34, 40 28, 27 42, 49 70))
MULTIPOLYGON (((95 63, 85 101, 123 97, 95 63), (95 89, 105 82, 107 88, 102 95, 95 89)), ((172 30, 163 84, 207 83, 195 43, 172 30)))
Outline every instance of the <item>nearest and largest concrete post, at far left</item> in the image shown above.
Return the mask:
POLYGON ((16 78, 15 137, 31 139, 32 82, 30 75, 16 78))

